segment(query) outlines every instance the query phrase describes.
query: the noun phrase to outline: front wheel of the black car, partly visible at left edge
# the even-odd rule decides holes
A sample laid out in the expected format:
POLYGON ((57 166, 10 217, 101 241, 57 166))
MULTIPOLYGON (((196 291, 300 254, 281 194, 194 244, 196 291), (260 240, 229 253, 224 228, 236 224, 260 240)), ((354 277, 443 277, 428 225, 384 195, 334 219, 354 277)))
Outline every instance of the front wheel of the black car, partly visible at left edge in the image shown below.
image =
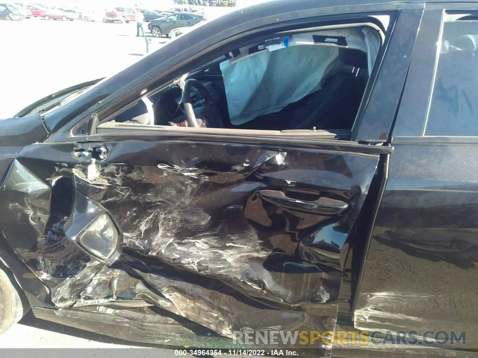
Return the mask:
POLYGON ((22 319, 23 305, 10 278, 0 268, 0 334, 22 319))

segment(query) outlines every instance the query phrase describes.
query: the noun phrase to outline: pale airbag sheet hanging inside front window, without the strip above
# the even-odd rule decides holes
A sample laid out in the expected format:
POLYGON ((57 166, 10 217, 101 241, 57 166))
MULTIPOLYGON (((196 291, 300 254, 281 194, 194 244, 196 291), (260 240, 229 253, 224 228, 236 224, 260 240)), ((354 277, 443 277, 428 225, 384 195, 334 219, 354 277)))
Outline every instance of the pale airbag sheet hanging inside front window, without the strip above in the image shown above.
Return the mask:
POLYGON ((221 63, 229 118, 240 125, 318 91, 324 76, 340 66, 338 48, 294 46, 221 63))

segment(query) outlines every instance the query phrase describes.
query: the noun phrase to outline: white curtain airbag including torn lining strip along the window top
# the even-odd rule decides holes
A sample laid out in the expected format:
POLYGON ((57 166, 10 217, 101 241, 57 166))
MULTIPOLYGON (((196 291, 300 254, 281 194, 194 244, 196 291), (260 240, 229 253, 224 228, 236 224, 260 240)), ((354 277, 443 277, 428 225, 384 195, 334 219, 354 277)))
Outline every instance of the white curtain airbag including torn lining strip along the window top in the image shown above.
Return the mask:
POLYGON ((339 47, 359 49, 375 61, 380 38, 363 28, 335 29, 286 36, 268 45, 240 50, 220 63, 230 122, 241 125, 280 111, 322 88, 322 82, 348 66, 340 61, 339 47), (340 45, 338 45, 340 44, 340 45), (369 51, 372 48, 373 51, 369 51), (370 57, 370 56, 369 56, 370 57))

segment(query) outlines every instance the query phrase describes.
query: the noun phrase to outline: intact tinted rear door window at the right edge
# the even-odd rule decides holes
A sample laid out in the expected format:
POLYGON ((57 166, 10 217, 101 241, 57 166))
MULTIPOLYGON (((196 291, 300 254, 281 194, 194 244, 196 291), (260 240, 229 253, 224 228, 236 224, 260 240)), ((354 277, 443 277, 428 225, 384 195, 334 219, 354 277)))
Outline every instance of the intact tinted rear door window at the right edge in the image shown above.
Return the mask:
POLYGON ((478 136, 478 21, 446 21, 426 136, 478 136))

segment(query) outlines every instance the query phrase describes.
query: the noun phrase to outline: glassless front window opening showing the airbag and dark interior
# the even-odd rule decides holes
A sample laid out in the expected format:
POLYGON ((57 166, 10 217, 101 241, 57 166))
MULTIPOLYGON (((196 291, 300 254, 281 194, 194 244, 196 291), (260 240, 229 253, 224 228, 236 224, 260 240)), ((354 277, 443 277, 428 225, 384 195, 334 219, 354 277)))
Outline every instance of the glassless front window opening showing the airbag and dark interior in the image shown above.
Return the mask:
MULTIPOLYGON (((178 15, 189 14, 176 13, 169 19, 178 15)), ((188 97, 196 118, 209 128, 350 130, 369 79, 369 63, 375 62, 375 49, 381 46, 380 35, 371 28, 350 27, 294 34, 294 38, 252 40, 231 52, 229 58, 204 69, 206 75, 218 75, 214 80, 196 74, 196 81, 221 114, 214 115, 207 96, 193 87, 188 97), (344 44, 319 44, 315 42, 317 36, 343 38, 344 44)), ((184 98, 176 85, 148 96, 155 104, 154 125, 185 126, 184 98)), ((100 118, 100 123, 111 119, 140 123, 138 118, 146 115, 147 109, 133 107, 114 118, 100 118)), ((99 129, 110 130, 108 125, 99 129)))

